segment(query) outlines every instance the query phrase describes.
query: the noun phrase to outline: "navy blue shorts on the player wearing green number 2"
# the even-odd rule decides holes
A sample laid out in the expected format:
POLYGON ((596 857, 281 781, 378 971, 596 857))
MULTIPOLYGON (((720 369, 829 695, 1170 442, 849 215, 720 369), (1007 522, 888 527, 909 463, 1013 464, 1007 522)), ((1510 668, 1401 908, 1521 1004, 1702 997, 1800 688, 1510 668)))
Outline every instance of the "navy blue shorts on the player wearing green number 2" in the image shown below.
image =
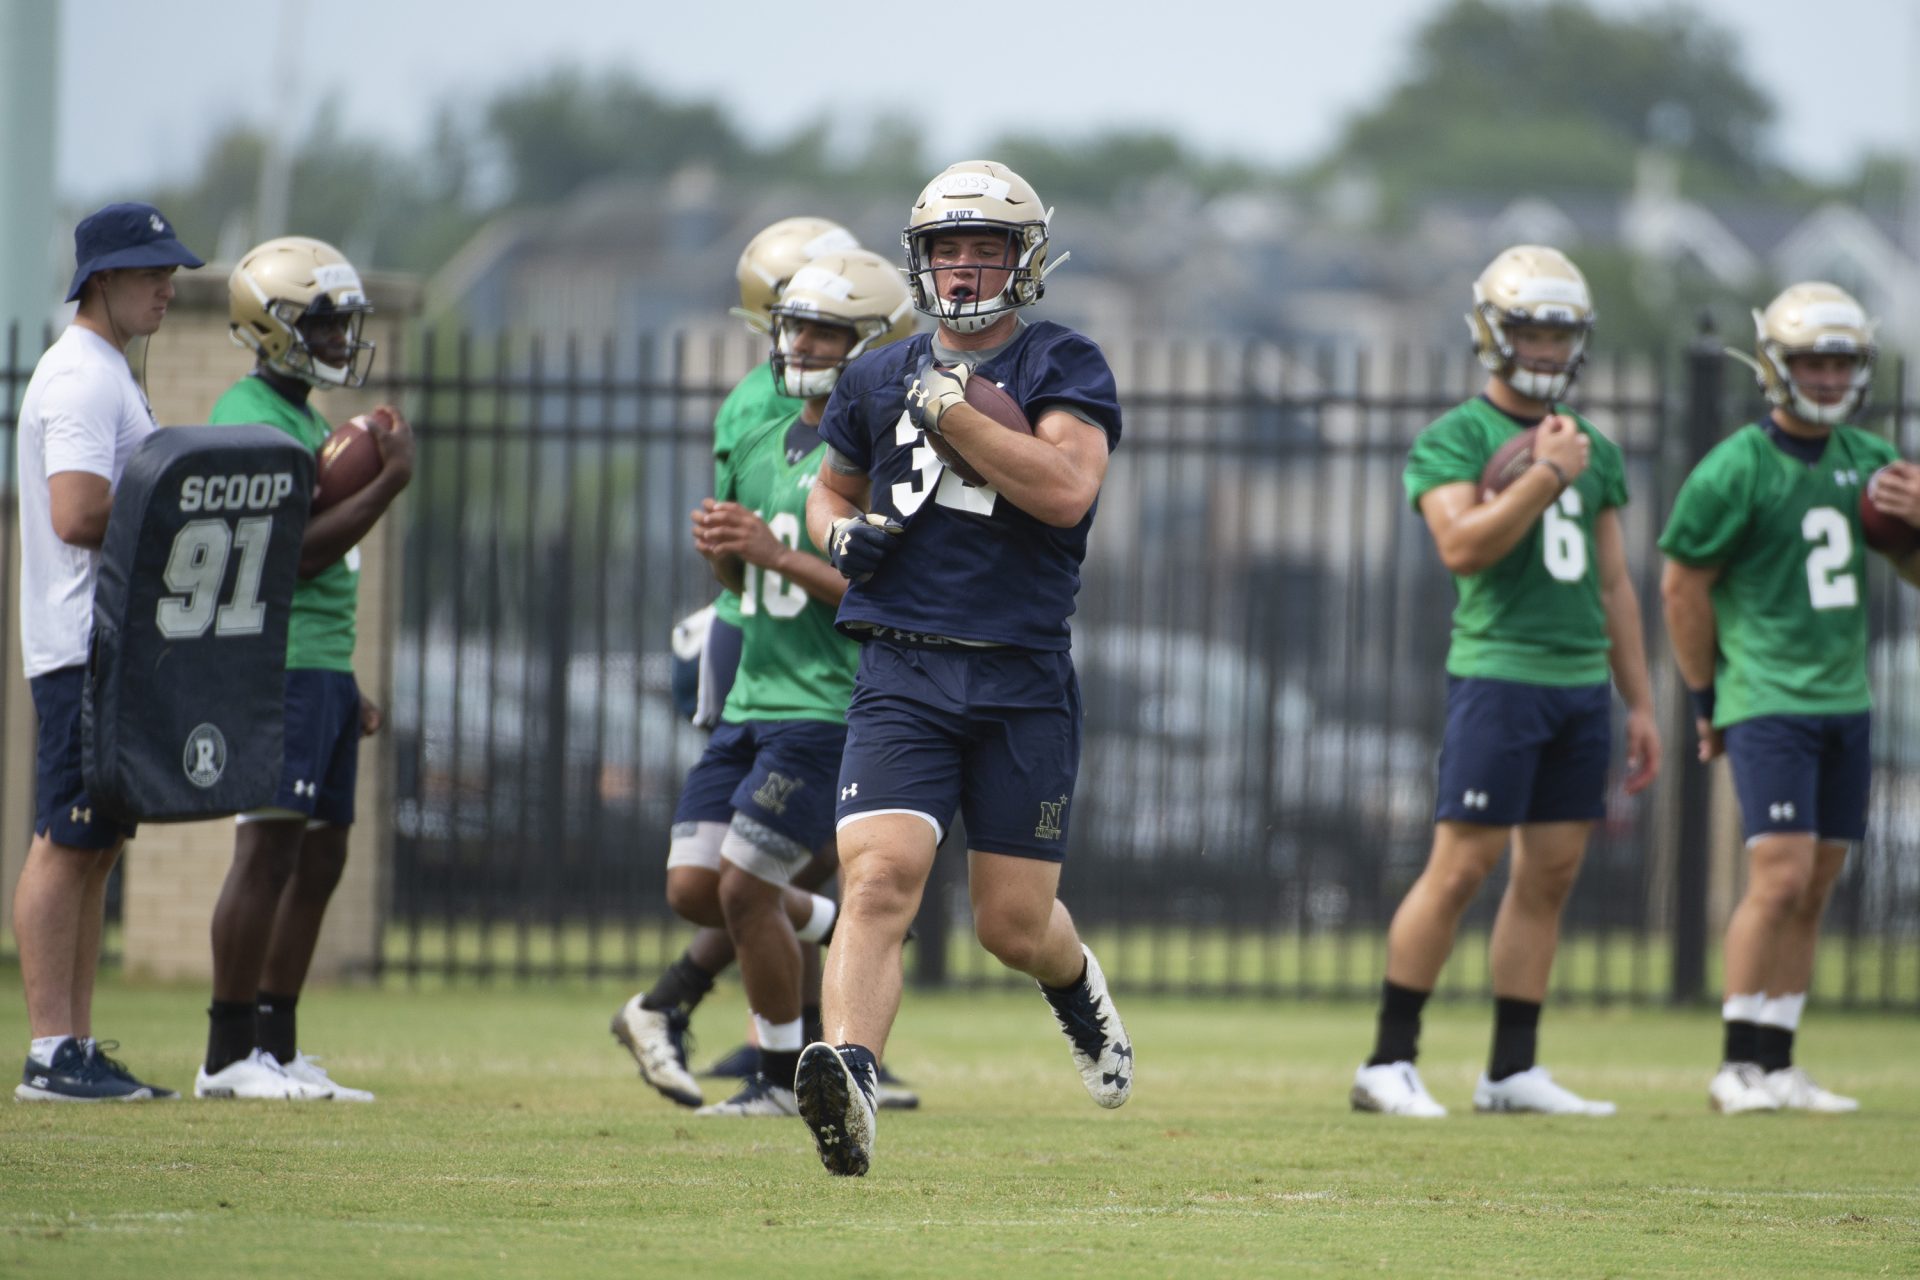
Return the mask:
POLYGON ((1874 779, 1870 716, 1757 716, 1722 731, 1747 839, 1814 833, 1866 837, 1874 779))

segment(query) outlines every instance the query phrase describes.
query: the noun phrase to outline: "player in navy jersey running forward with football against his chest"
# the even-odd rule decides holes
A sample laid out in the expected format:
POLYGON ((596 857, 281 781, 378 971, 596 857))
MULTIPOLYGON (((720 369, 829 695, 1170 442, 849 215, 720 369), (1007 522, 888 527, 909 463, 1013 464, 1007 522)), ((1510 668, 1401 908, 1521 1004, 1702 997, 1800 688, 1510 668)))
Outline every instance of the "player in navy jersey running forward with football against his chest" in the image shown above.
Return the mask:
POLYGON ((914 307, 939 328, 854 361, 820 426, 829 451, 806 522, 851 581, 839 626, 864 641, 839 770, 826 1038, 797 1077, 835 1174, 872 1161, 900 942, 956 810, 981 944, 1041 984, 1094 1102, 1117 1107, 1133 1086, 1133 1046, 1056 896, 1081 748, 1068 616, 1121 422, 1100 349, 1020 315, 1043 294, 1050 217, 1004 165, 935 177, 902 240, 914 307), (1000 384, 1033 434, 972 409, 970 378, 1000 384), (933 436, 987 484, 948 470, 933 436))

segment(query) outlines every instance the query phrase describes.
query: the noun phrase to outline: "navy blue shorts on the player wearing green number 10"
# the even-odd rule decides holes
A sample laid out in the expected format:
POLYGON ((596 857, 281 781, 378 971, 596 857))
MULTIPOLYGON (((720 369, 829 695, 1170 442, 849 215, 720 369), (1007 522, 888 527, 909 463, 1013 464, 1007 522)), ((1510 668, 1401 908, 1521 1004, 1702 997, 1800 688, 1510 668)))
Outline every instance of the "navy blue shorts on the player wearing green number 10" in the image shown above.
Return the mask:
POLYGON ((833 787, 847 727, 826 720, 720 722, 680 789, 674 825, 745 814, 789 841, 833 839, 833 787))

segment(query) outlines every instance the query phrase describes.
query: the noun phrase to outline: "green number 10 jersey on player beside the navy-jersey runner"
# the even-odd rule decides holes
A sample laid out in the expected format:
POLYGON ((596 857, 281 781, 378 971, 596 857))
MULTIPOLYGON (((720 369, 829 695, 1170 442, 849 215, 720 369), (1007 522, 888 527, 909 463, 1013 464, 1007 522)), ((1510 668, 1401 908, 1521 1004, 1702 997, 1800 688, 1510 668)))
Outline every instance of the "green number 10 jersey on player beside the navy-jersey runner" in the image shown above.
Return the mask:
MULTIPOLYGON (((774 537, 826 560, 806 533, 806 495, 820 476, 826 441, 814 438, 804 457, 789 461, 787 428, 797 418, 791 413, 743 436, 716 497, 758 512, 774 537)), ((739 593, 739 674, 720 718, 845 723, 860 647, 833 629, 837 612, 797 581, 749 564, 739 593)))

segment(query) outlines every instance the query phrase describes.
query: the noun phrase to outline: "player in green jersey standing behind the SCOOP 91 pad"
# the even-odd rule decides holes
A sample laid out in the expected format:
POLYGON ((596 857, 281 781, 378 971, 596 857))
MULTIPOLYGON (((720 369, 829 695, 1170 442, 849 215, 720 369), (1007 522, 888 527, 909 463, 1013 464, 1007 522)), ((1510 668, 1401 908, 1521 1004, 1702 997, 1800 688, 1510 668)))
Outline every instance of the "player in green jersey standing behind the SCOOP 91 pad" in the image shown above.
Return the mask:
MULTIPOLYGON (((307 449, 328 436, 315 388, 357 388, 372 365, 361 326, 372 305, 340 249, 280 236, 246 253, 227 280, 228 328, 253 351, 207 418, 265 422, 307 449)), ((413 430, 390 405, 369 415, 380 470, 307 520, 286 629, 286 762, 267 808, 242 814, 234 862, 213 908, 213 1004, 196 1098, 372 1102, 300 1052, 296 1004, 326 904, 348 860, 359 739, 380 708, 353 683, 359 543, 413 478, 413 430)))

